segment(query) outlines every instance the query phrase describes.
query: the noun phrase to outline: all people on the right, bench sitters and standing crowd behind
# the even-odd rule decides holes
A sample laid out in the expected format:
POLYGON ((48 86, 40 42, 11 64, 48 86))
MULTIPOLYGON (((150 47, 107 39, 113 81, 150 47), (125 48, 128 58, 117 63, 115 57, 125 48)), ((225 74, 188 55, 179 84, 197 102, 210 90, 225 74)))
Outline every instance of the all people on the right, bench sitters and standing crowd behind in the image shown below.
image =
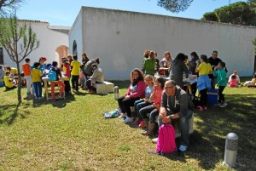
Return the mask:
POLYGON ((188 121, 194 108, 191 94, 184 90, 183 78, 188 78, 189 74, 198 77, 191 88, 192 96, 195 97, 196 92, 200 96, 199 105, 196 106, 200 111, 207 110, 207 91, 210 88, 215 88, 218 84, 216 105, 225 107, 227 103, 223 94, 224 88, 228 83, 235 83, 233 78, 236 79, 236 84, 240 83, 237 71, 234 71, 227 82, 227 68, 218 58, 217 51, 213 51, 210 58, 205 54, 199 57, 195 52, 190 56, 189 60, 188 56, 180 53, 173 59, 167 51, 162 60, 157 60, 157 53, 146 50, 142 70, 136 68, 131 71, 131 84, 124 96, 118 99, 119 117, 124 118, 124 123, 133 122, 137 123, 137 128, 145 128, 143 135, 154 134, 157 116, 159 128, 163 123, 178 122, 181 130, 179 151, 186 151, 189 146, 188 121), (162 75, 168 77, 161 77, 162 75), (131 115, 131 106, 135 109, 134 116, 131 115))

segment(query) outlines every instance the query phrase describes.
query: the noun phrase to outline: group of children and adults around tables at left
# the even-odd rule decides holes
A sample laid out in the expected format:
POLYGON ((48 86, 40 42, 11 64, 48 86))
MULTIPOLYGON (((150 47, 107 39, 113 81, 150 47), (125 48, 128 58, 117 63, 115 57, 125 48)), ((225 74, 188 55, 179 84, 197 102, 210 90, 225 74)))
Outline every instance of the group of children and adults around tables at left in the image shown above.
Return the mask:
MULTIPOLYGON (((79 86, 83 89, 88 89, 90 93, 95 93, 94 84, 103 83, 104 77, 102 69, 98 67, 100 60, 89 60, 85 53, 82 54, 82 63, 78 60, 77 55, 68 54, 67 57, 61 59, 61 65, 57 61, 46 65, 45 57, 41 57, 38 62, 32 66, 30 59, 25 58, 25 63, 22 65, 22 79, 26 81, 26 98, 25 99, 43 99, 42 87, 44 81, 42 77, 49 77, 51 87, 51 96, 55 100, 55 85, 60 87, 58 98, 65 94, 71 93, 71 85, 73 90, 79 91, 79 86), (51 76, 54 76, 52 78, 51 76), (61 78, 61 79, 60 79, 61 78), (71 85, 70 85, 71 81, 71 85)), ((3 79, 6 90, 16 88, 15 79, 17 79, 18 70, 9 66, 0 66, 0 80, 3 79)))

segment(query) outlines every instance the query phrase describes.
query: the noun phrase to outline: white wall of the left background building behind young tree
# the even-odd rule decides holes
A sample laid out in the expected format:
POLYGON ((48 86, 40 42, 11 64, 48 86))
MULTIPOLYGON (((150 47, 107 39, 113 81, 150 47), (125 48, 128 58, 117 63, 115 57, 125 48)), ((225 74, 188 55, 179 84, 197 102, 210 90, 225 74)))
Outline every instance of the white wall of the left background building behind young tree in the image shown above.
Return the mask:
MULTIPOLYGON (((22 24, 23 22, 24 21, 20 21, 19 23, 22 24)), ((54 60, 59 61, 59 59, 55 59, 55 49, 61 45, 68 47, 68 35, 58 31, 49 30, 49 24, 46 22, 26 21, 26 24, 31 24, 32 31, 37 34, 38 40, 40 41, 39 48, 32 51, 28 56, 31 59, 31 65, 36 61, 38 62, 41 56, 47 58, 47 64, 54 60)), ((9 54, 7 54, 5 50, 3 50, 3 53, 4 65, 16 67, 15 62, 10 60, 9 54)), ((22 61, 20 65, 23 63, 24 62, 22 61)))

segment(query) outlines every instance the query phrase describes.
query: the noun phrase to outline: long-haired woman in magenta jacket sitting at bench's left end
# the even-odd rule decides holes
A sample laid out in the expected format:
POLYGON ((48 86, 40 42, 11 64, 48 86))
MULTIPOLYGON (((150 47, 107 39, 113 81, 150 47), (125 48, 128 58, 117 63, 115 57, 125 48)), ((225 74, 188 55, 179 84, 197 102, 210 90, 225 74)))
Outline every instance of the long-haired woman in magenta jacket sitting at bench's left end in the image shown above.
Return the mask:
POLYGON ((120 118, 125 118, 124 123, 131 123, 131 106, 134 106, 134 102, 143 99, 145 96, 146 83, 144 82, 144 74, 138 68, 131 71, 130 76, 131 84, 127 89, 124 96, 118 99, 119 108, 121 110, 120 118))

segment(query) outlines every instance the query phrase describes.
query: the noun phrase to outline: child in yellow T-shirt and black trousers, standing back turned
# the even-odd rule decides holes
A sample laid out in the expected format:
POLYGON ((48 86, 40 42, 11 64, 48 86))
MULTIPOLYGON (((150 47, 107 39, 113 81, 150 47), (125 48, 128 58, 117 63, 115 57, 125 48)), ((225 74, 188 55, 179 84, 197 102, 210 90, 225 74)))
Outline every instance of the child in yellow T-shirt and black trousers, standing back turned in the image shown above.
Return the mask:
POLYGON ((78 60, 78 56, 73 56, 73 61, 71 62, 72 71, 71 71, 71 83, 72 88, 76 91, 79 91, 79 74, 80 74, 80 66, 82 66, 81 62, 78 60))

